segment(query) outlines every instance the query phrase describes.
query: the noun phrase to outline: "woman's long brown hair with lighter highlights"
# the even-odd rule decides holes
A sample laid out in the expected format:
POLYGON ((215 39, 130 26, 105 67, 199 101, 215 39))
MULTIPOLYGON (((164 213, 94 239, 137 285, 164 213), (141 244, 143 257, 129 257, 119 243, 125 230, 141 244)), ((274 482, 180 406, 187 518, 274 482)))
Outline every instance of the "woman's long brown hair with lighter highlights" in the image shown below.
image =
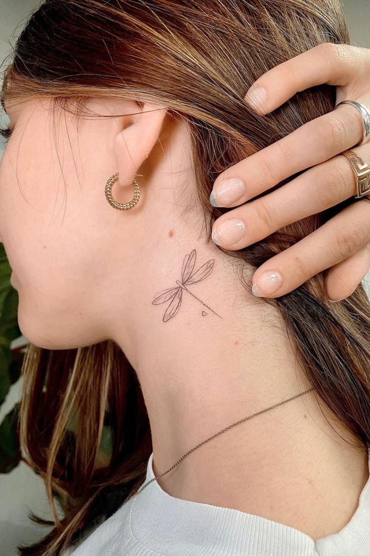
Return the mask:
MULTIPOLYGON (((321 86, 298 93, 271 115, 257 116, 244 101, 247 89, 267 69, 317 44, 348 42, 337 0, 48 0, 18 39, 2 97, 53 97, 54 107, 81 117, 90 96, 168 106, 191 131, 211 241, 212 223, 227 210, 209 204, 216 177, 334 107, 334 88, 321 86)), ((235 257, 250 291, 245 265, 259 267, 344 206, 245 249, 222 251, 235 257)), ((330 304, 325 277, 321 272, 264 302, 280 310, 320 398, 368 446, 368 297, 360 284, 347 299, 330 304)), ((21 554, 60 554, 143 483, 152 449, 148 414, 135 371, 113 341, 55 351, 31 345, 23 381, 22 447, 45 479, 55 527, 21 554), (103 425, 113 430, 113 448, 109 461, 97 465, 103 425), (55 493, 65 514, 60 520, 55 493)))

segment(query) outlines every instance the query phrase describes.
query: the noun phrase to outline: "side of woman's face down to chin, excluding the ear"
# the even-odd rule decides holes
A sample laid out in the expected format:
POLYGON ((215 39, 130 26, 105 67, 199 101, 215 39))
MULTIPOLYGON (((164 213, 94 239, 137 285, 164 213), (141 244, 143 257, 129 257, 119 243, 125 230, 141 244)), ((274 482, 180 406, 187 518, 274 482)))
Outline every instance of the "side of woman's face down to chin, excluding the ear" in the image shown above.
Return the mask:
MULTIPOLYGON (((22 333, 37 346, 70 349, 107 339, 102 315, 109 314, 112 281, 119 272, 120 283, 126 279, 115 261, 128 221, 104 195, 117 171, 114 142, 124 117, 77 125, 68 112, 54 119, 51 103, 28 98, 7 106, 14 131, 0 162, 0 240, 22 333)), ((122 113, 109 99, 92 99, 89 108, 122 113)))

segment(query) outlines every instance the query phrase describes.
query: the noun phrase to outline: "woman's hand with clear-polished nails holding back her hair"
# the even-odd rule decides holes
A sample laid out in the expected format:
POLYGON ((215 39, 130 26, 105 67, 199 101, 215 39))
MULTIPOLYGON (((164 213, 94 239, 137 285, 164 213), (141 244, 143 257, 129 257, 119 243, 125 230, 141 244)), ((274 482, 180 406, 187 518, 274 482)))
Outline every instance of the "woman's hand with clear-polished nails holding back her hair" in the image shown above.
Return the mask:
MULTIPOLYGON (((370 49, 325 43, 266 72, 245 100, 257 112, 267 114, 298 91, 328 83, 337 86, 337 104, 356 100, 370 109, 369 72, 370 49)), ((362 133, 361 114, 351 105, 341 105, 227 168, 215 181, 210 196, 214 206, 238 207, 296 172, 310 170, 220 216, 212 228, 212 239, 225 249, 242 249, 356 195, 351 165, 339 153, 351 149, 370 165, 370 143, 353 148, 361 142, 362 133), (222 182, 226 185, 227 178, 234 188, 221 195, 220 186, 222 182), (230 219, 237 224, 236 231, 225 233, 225 222, 230 219), (217 238, 216 231, 224 235, 217 238)), ((253 276, 253 293, 279 297, 330 269, 327 294, 330 300, 339 301, 352 294, 369 267, 370 203, 358 200, 261 265, 253 276)))

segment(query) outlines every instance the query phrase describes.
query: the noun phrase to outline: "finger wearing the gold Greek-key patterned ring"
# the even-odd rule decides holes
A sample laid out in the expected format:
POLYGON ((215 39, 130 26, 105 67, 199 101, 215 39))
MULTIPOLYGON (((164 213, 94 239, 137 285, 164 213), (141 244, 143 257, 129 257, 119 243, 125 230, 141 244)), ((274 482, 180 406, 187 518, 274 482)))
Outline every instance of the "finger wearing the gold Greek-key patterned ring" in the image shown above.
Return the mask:
MULTIPOLYGON (((354 152, 370 161, 370 145, 354 152)), ((268 195, 220 216, 212 226, 212 240, 225 249, 254 244, 282 227, 317 214, 356 195, 356 180, 345 156, 314 166, 268 195), (237 222, 235 231, 231 226, 237 222), (239 232, 240 237, 236 236, 239 232)), ((370 222, 368 225, 370 229, 370 222)))

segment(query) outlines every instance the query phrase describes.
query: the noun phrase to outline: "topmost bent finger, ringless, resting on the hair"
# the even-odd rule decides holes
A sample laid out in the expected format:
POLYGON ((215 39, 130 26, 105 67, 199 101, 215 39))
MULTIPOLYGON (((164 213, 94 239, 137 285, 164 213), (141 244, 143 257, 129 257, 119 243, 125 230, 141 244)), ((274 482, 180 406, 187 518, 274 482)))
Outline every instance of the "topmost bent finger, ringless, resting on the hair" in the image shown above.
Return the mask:
POLYGON ((315 85, 346 86, 370 66, 368 49, 323 43, 264 73, 250 87, 245 100, 259 113, 276 110, 298 91, 315 85))

